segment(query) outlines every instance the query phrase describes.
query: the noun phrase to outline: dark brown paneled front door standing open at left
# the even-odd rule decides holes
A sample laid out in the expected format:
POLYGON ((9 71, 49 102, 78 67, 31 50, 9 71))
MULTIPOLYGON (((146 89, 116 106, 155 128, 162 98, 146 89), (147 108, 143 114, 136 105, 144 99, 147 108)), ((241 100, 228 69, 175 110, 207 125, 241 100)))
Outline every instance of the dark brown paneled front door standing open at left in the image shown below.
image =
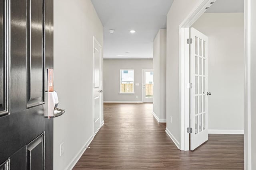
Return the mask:
POLYGON ((0 0, 0 170, 53 169, 53 0, 0 0))

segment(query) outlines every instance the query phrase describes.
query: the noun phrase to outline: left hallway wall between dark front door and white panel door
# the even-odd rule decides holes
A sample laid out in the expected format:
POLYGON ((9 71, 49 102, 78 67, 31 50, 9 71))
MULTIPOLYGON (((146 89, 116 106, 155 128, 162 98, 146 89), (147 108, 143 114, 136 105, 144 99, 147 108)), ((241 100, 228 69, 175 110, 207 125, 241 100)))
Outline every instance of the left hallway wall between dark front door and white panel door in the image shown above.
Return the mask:
POLYGON ((102 23, 90 0, 54 0, 54 89, 58 107, 66 109, 54 118, 54 170, 72 166, 93 134, 93 35, 103 45, 102 23))

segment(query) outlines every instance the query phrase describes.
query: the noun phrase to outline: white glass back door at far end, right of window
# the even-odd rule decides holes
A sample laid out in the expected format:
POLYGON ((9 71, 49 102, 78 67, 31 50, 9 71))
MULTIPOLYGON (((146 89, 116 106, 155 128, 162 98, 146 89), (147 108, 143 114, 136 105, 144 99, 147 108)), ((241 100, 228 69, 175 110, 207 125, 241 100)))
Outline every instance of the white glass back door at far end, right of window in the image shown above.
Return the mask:
POLYGON ((143 69, 143 102, 153 102, 153 69, 143 69))

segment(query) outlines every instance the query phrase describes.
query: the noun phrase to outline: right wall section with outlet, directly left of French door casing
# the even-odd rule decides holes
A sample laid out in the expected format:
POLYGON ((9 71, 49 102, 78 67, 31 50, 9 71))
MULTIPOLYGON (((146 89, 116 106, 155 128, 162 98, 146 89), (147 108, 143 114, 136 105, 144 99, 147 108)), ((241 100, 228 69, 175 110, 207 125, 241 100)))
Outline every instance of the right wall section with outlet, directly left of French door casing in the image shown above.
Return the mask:
POLYGON ((174 0, 167 14, 166 129, 180 143, 179 113, 179 26, 203 0, 174 0), (172 116, 172 123, 170 117, 172 116))

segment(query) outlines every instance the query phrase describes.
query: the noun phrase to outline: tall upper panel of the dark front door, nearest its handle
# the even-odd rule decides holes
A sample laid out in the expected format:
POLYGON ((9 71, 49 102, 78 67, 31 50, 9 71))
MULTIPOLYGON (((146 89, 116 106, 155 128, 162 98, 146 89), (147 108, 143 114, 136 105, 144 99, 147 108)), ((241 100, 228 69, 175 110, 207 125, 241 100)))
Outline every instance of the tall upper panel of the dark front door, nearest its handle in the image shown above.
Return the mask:
POLYGON ((43 0, 27 0, 27 107, 43 104, 43 0))

